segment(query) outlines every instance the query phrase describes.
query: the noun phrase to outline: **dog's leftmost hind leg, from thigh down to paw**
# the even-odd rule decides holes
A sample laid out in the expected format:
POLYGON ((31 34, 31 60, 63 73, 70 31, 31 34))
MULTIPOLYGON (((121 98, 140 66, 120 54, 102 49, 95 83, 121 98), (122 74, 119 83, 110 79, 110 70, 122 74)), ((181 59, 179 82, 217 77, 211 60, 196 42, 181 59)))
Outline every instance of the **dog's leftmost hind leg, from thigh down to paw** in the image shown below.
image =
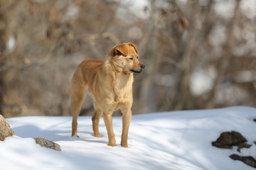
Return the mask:
POLYGON ((78 136, 78 116, 82 106, 83 98, 85 97, 85 92, 87 90, 87 85, 80 77, 78 72, 75 72, 73 79, 71 81, 71 113, 72 113, 72 136, 78 136))

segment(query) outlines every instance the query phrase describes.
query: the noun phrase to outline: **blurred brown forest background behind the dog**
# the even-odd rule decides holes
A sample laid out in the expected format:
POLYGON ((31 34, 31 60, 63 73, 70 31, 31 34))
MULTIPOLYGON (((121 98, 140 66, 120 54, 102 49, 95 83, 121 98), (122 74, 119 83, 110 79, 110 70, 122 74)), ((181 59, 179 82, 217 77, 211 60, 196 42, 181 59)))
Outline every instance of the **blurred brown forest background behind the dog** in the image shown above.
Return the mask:
MULTIPOLYGON (((133 114, 256 107, 254 0, 0 0, 0 112, 70 115, 85 58, 134 42, 133 114)), ((85 98, 81 115, 92 114, 85 98)), ((119 113, 115 113, 119 115, 119 113)))

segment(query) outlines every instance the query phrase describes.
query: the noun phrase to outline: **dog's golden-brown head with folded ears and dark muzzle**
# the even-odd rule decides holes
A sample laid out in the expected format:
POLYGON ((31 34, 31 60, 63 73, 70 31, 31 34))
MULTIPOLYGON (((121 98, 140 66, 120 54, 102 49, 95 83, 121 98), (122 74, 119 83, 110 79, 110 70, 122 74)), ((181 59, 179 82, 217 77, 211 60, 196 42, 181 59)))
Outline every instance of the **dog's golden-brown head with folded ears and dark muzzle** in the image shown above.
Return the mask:
POLYGON ((140 73, 145 68, 145 65, 139 62, 137 45, 132 42, 114 46, 110 51, 109 57, 114 67, 124 74, 140 73))

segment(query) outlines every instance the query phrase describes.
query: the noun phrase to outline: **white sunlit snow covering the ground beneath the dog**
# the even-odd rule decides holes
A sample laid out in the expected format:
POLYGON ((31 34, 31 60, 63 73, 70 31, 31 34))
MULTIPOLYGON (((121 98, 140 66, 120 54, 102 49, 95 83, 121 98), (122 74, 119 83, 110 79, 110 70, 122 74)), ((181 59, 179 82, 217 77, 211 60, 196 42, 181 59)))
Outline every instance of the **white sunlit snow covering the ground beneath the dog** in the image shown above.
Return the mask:
POLYGON ((256 109, 244 106, 201 111, 173 111, 134 115, 129 148, 121 147, 122 118, 114 117, 117 147, 104 137, 92 136, 90 116, 78 119, 78 137, 70 137, 71 117, 28 116, 9 118, 17 136, 0 142, 0 169, 253 169, 229 158, 230 154, 256 158, 256 109), (221 132, 240 132, 252 147, 213 147, 221 132), (22 137, 22 138, 21 138, 22 137), (45 137, 62 152, 36 145, 31 137, 45 137))

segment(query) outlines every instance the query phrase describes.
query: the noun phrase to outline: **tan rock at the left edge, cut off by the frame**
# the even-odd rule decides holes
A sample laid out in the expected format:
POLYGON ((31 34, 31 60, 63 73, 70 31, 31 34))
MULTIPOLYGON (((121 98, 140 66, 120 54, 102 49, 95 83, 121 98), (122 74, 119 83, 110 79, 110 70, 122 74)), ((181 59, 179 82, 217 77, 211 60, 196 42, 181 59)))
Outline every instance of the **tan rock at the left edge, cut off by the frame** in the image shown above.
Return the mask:
POLYGON ((0 140, 3 141, 6 137, 15 135, 10 125, 6 122, 5 118, 0 115, 0 140))

